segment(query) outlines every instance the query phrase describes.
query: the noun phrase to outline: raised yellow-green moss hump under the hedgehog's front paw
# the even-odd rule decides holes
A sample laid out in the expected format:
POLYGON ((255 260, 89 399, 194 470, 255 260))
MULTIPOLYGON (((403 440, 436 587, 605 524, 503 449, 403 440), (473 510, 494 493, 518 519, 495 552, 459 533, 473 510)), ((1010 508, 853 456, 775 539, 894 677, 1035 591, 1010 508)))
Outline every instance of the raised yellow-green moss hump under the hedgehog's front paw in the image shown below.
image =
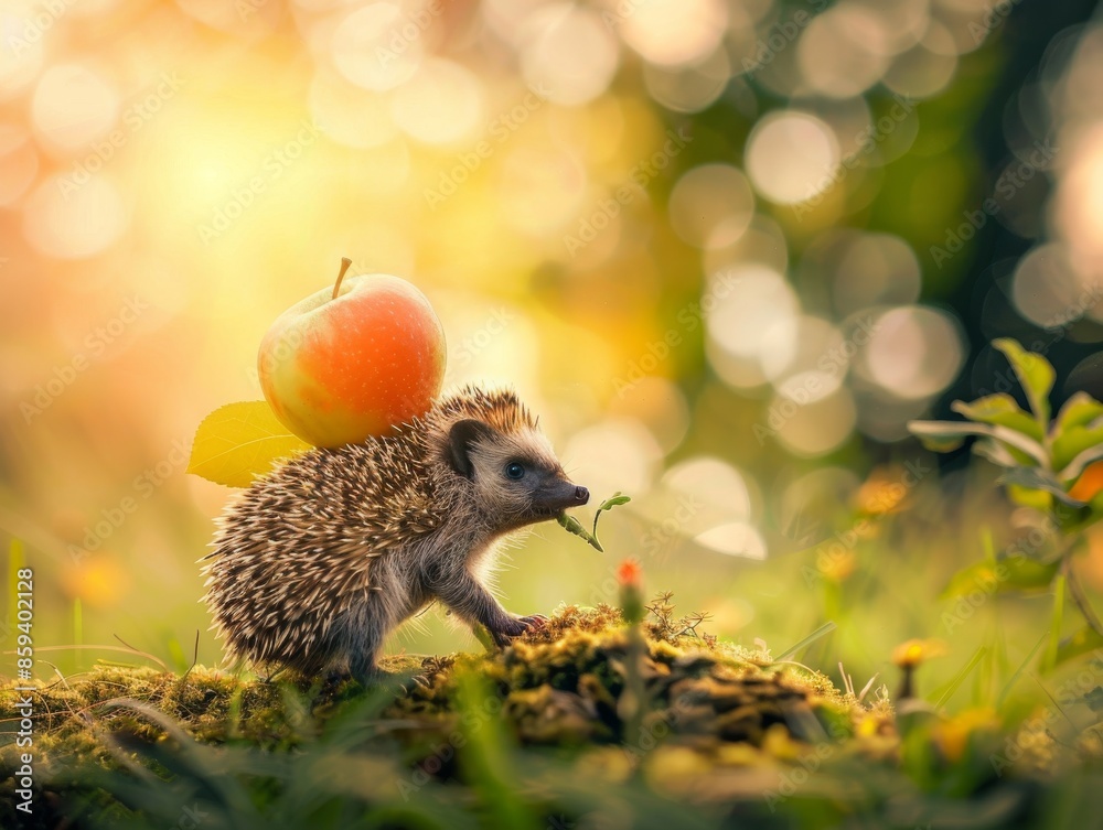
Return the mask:
POLYGON ((694 618, 674 621, 668 605, 658 607, 636 645, 614 608, 561 608, 504 651, 429 661, 390 713, 447 727, 458 682, 475 675, 528 744, 761 750, 771 730, 807 744, 859 732, 891 741, 886 700, 863 705, 818 672, 699 635, 694 618))

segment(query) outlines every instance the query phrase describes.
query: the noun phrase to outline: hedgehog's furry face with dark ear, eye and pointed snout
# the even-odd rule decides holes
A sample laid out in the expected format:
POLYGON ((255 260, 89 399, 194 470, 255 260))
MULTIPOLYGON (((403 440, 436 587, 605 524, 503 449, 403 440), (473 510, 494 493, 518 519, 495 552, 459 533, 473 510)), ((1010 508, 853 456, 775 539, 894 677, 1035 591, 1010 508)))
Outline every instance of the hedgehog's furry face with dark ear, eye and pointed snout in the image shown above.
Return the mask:
POLYGON ((567 478, 544 435, 535 430, 505 434, 475 420, 449 432, 452 468, 470 479, 483 510, 502 529, 559 516, 585 505, 590 494, 567 478))

